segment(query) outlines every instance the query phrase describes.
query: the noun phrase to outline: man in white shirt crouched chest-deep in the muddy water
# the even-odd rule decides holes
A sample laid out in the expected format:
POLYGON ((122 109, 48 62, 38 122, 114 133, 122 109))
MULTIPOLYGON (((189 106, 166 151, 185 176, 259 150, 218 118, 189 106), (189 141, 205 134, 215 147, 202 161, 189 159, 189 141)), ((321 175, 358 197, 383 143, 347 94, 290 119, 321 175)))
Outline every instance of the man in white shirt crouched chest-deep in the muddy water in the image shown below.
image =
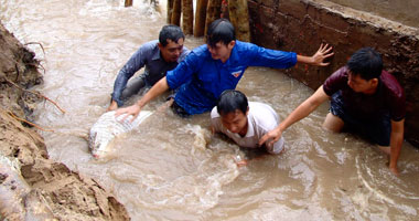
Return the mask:
MULTIPOLYGON (((246 148, 266 148, 269 154, 280 154, 283 138, 270 146, 259 146, 259 139, 279 125, 277 113, 269 105, 247 102, 239 91, 224 91, 217 106, 211 112, 213 131, 223 133, 238 146, 246 148)), ((269 143, 266 143, 269 144, 269 143)))

